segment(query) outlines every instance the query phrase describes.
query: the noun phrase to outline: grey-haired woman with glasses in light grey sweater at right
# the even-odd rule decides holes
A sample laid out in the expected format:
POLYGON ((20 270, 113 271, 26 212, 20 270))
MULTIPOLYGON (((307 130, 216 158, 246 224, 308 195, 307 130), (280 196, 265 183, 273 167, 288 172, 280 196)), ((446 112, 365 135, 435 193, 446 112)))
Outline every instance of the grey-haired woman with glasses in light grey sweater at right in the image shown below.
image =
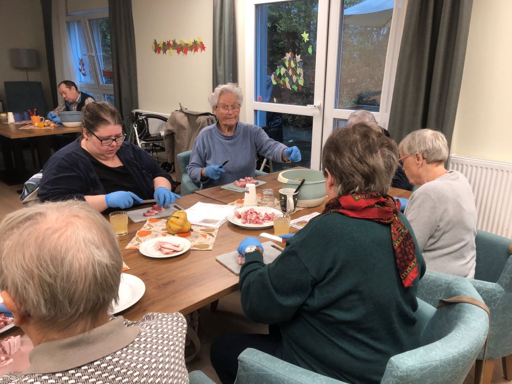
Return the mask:
POLYGON ((473 278, 477 212, 473 191, 456 170, 446 170, 448 144, 441 132, 422 129, 400 142, 399 163, 414 191, 405 214, 427 269, 473 278))

